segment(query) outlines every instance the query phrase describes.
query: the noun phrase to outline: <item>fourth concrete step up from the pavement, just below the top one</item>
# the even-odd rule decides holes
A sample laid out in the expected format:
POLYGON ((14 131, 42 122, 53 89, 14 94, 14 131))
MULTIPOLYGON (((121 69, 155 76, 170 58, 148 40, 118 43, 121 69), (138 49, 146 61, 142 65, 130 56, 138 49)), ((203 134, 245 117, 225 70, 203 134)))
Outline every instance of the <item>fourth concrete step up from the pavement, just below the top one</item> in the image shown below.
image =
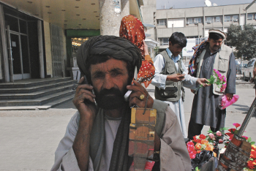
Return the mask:
POLYGON ((59 86, 74 85, 77 80, 66 80, 57 83, 43 84, 40 86, 31 86, 26 88, 0 88, 0 94, 29 94, 35 91, 42 91, 47 88, 56 88, 59 86))

